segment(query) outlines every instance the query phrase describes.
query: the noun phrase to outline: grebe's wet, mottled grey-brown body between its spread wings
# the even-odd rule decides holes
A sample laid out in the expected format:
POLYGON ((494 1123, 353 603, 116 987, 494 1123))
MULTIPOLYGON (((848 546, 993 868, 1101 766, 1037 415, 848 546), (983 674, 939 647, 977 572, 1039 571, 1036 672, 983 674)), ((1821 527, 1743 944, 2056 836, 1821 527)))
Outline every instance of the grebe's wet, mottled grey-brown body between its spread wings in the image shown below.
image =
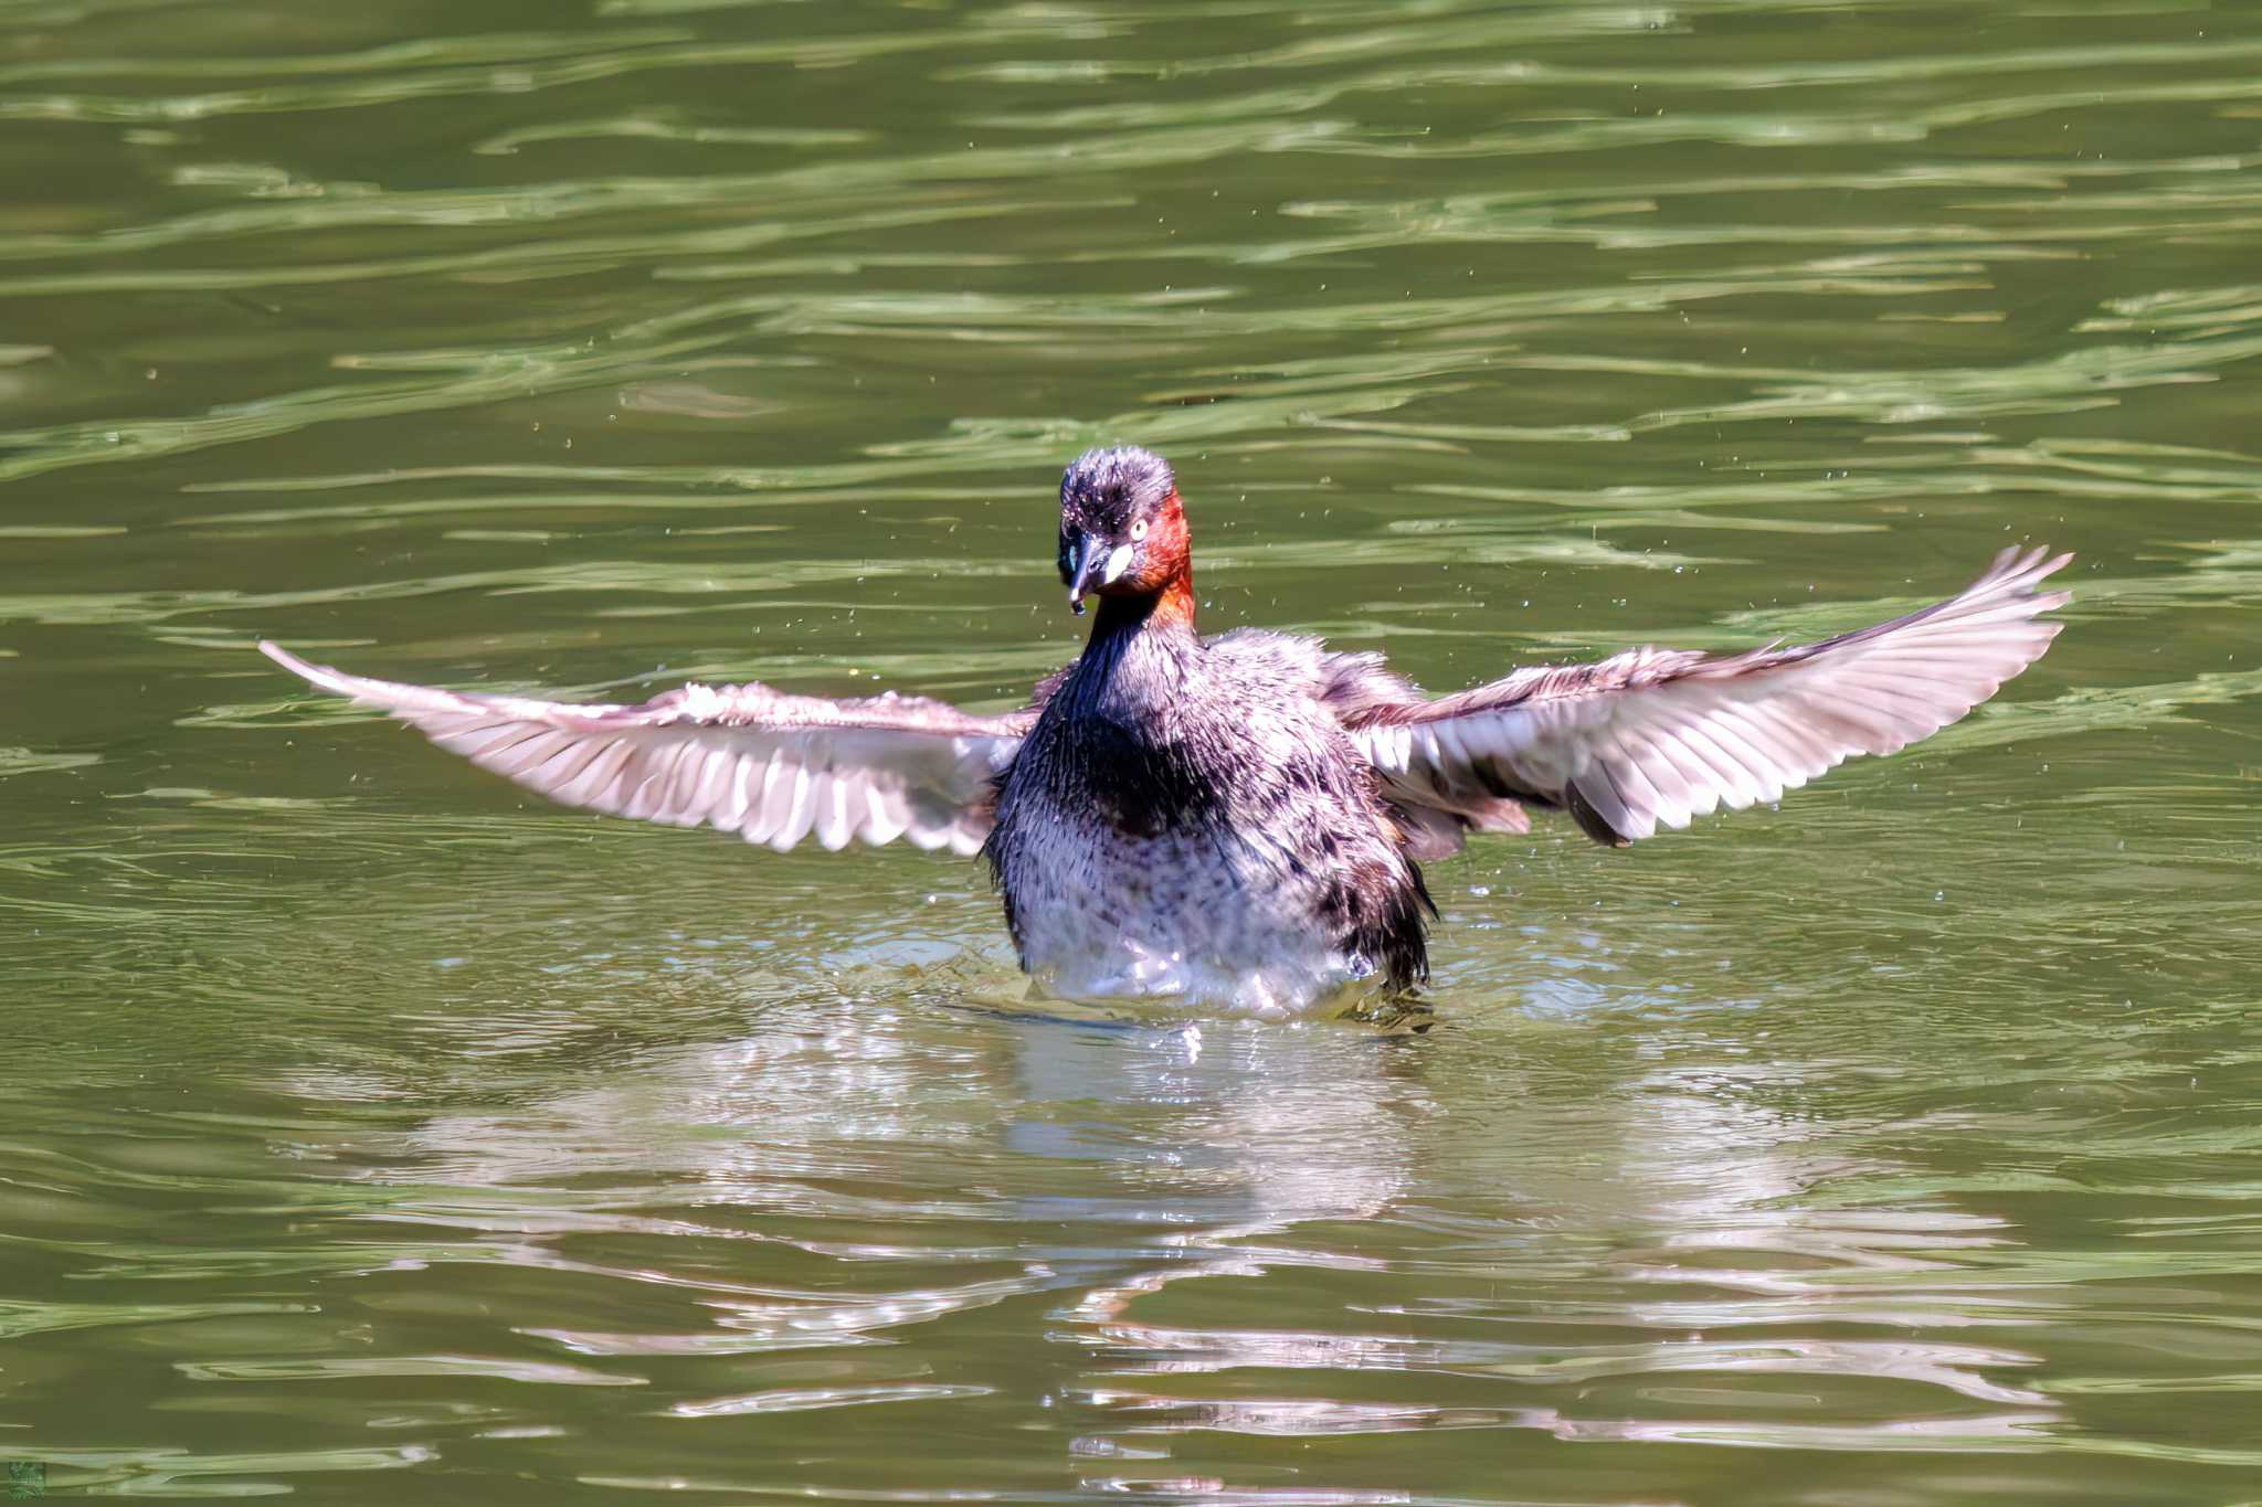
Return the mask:
POLYGON ((1077 999, 1258 1014, 1427 974, 1430 897, 1321 698, 1326 657, 1102 608, 984 847, 1022 967, 1077 999))

